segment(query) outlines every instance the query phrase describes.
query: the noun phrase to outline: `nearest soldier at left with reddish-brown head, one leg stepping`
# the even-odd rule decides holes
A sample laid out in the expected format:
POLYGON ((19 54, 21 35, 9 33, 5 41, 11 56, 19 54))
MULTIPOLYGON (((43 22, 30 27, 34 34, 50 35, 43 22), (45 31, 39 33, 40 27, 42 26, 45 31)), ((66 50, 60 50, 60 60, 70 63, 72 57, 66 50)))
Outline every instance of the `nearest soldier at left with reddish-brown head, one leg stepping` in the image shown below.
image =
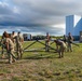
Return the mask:
POLYGON ((9 63, 12 64, 13 62, 16 62, 16 58, 14 55, 14 43, 11 40, 11 37, 9 36, 8 32, 4 33, 4 37, 5 37, 6 51, 9 55, 9 63))

